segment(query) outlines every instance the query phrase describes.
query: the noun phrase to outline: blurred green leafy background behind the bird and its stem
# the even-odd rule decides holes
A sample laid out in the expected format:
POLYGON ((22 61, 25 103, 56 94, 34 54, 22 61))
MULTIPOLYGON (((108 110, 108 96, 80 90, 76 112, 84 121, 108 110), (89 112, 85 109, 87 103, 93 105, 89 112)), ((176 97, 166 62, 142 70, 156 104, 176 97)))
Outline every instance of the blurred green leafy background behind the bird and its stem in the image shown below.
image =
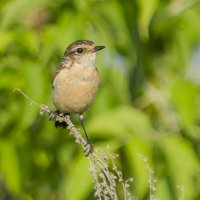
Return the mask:
MULTIPOLYGON (((86 113, 95 146, 120 155, 131 193, 200 199, 200 1, 1 0, 0 199, 93 198, 88 160, 19 93, 55 109, 51 77, 65 48, 89 39, 101 86, 86 113)), ((74 118, 77 127, 78 120, 74 118)))

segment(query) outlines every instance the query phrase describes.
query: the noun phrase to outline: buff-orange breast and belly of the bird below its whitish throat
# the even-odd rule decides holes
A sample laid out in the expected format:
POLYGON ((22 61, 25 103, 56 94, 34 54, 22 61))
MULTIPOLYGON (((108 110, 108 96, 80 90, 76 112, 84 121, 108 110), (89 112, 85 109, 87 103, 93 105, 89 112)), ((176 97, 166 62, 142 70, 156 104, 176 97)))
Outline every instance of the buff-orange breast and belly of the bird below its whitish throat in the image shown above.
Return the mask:
POLYGON ((94 101, 99 82, 94 67, 62 69, 53 81, 53 102, 62 112, 81 113, 94 101))

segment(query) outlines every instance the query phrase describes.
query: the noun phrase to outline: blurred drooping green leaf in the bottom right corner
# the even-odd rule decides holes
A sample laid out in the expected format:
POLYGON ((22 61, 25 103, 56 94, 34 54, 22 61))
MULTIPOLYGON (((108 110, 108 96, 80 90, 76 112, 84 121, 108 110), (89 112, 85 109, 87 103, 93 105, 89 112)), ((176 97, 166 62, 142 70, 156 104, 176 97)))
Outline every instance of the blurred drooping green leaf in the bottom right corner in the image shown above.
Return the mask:
MULTIPOLYGON (((185 188, 184 199, 194 199, 200 181, 200 165, 193 146, 178 135, 171 135, 159 141, 166 157, 167 174, 171 177, 173 187, 181 184, 185 188)), ((176 189, 177 196, 178 190, 176 189)))

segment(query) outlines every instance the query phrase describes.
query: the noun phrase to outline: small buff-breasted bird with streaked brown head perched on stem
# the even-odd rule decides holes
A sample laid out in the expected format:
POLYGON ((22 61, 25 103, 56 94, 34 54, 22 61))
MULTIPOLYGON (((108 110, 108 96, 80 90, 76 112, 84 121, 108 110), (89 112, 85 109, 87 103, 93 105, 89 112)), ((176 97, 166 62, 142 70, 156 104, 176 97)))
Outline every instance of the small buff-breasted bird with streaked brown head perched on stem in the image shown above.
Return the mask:
MULTIPOLYGON (((100 84, 100 76, 96 68, 96 53, 105 46, 96 46, 90 40, 77 40, 70 44, 52 77, 52 100, 57 113, 79 115, 85 137, 86 156, 93 152, 84 125, 84 112, 95 100, 100 84)), ((65 122, 55 122, 55 126, 66 128, 65 122)))

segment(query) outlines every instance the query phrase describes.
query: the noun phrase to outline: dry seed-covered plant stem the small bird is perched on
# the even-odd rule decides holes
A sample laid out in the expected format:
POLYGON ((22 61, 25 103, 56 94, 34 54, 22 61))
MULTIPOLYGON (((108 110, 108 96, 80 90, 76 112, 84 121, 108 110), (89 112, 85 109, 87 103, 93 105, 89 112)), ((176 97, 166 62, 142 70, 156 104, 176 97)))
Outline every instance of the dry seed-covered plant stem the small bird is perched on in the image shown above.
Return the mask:
MULTIPOLYGON (((79 130, 74 126, 73 122, 70 119, 70 116, 64 116, 63 114, 58 114, 54 111, 51 111, 47 105, 37 104, 35 101, 30 99, 24 92, 20 89, 15 89, 15 91, 20 92, 31 104, 37 106, 40 109, 40 114, 43 115, 47 113, 51 120, 65 122, 67 124, 66 129, 70 131, 70 135, 72 135, 75 139, 75 142, 81 146, 83 151, 85 152, 86 140, 82 137, 79 130)), ((111 154, 110 148, 107 146, 105 149, 94 148, 94 151, 90 153, 87 158, 90 162, 90 173, 93 177, 94 196, 98 200, 118 200, 118 192, 117 192, 117 183, 121 184, 121 188, 123 191, 124 199, 131 200, 131 194, 128 192, 128 188, 130 187, 129 182, 132 182, 133 179, 130 178, 128 180, 123 179, 123 174, 120 170, 117 169, 115 164, 115 159, 118 157, 117 154, 111 154), (108 163, 111 163, 109 166, 108 163)))

